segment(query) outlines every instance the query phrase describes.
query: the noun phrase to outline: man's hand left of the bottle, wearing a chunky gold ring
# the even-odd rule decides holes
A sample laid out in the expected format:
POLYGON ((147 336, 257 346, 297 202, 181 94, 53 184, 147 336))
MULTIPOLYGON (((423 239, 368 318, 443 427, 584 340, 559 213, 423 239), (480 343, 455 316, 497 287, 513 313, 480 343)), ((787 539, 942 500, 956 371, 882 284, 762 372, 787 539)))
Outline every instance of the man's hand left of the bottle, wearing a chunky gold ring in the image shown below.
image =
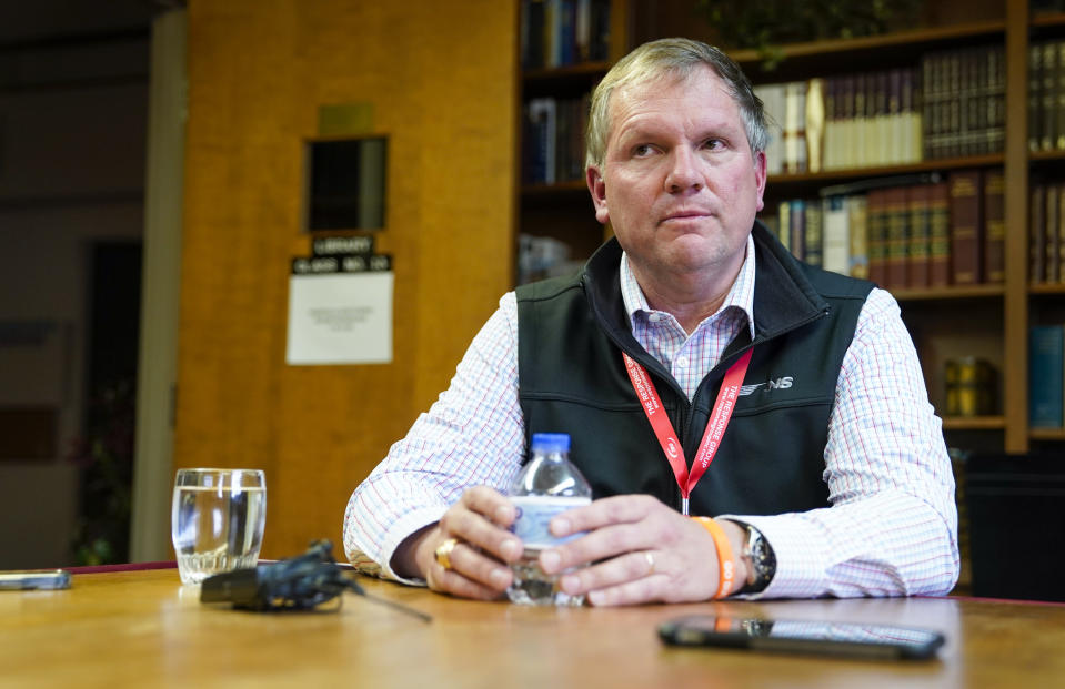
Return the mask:
POLYGON ((440 521, 404 540, 392 558, 400 576, 425 579, 429 587, 462 598, 494 600, 511 585, 510 563, 522 555, 521 540, 508 527, 518 511, 514 505, 488 486, 462 494, 440 521), (458 540, 449 559, 451 568, 436 561, 436 548, 458 540))

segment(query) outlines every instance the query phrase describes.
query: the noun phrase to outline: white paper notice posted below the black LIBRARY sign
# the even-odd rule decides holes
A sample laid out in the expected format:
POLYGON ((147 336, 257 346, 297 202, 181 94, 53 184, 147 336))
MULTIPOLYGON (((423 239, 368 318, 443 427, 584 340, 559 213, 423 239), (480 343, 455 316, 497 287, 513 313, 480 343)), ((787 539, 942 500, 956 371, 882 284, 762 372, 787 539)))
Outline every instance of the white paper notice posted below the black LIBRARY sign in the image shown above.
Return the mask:
POLYGON ((391 271, 292 275, 285 362, 390 363, 393 276, 391 271))

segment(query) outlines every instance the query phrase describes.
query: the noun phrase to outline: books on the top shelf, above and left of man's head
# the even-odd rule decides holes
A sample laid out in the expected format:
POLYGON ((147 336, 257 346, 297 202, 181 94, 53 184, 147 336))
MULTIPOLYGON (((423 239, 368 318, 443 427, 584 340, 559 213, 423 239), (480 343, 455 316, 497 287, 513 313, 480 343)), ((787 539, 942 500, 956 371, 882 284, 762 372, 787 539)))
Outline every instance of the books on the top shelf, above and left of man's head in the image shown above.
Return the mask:
POLYGON ((610 0, 522 0, 522 68, 565 67, 609 57, 610 0))

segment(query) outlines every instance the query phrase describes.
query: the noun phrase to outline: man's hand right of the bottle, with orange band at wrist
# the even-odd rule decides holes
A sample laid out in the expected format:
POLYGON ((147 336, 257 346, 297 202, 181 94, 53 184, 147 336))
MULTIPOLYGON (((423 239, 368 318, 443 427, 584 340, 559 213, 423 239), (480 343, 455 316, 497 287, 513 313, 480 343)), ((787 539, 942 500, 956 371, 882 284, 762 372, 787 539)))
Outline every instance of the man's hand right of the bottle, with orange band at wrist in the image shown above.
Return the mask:
MULTIPOLYGON (((736 564, 733 590, 747 578, 740 553, 743 529, 720 520, 736 564)), ((587 535, 544 550, 549 574, 595 563, 562 576, 562 590, 587 595, 592 605, 707 600, 717 591, 717 550, 710 533, 646 495, 603 498, 552 519, 555 536, 587 535), (653 564, 653 566, 652 566, 653 564)))

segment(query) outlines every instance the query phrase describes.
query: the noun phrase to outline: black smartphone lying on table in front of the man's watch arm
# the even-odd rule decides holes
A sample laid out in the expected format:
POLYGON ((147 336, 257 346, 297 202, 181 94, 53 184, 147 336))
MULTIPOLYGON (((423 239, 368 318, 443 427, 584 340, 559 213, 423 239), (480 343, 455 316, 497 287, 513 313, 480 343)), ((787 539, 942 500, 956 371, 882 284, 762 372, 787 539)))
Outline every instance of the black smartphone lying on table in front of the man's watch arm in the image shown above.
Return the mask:
POLYGON ((671 646, 924 660, 944 638, 932 629, 824 620, 766 620, 696 615, 663 622, 659 636, 671 646))

